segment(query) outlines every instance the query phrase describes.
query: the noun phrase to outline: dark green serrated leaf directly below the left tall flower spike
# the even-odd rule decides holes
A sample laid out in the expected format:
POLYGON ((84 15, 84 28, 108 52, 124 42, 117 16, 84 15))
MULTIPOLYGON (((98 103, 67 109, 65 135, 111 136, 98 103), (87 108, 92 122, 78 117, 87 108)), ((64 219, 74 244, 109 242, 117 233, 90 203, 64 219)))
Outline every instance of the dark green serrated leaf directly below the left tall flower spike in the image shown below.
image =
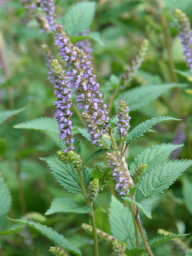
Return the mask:
POLYGON ((82 193, 77 170, 73 164, 63 164, 56 156, 41 158, 51 169, 51 173, 59 184, 71 193, 82 193))

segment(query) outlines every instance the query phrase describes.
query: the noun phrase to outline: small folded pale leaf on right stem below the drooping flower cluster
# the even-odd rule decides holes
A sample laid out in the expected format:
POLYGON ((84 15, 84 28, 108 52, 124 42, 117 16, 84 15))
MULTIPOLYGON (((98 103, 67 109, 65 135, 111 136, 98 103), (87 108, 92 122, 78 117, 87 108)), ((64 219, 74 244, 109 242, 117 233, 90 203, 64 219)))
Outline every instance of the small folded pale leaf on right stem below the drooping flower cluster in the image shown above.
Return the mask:
POLYGON ((129 203, 135 204, 138 206, 138 208, 146 214, 146 216, 148 218, 152 218, 151 217, 151 211, 152 211, 152 206, 155 203, 155 201, 157 201, 158 196, 153 196, 153 197, 149 197, 146 199, 143 199, 141 202, 135 202, 133 201, 130 197, 123 197, 123 199, 129 203))

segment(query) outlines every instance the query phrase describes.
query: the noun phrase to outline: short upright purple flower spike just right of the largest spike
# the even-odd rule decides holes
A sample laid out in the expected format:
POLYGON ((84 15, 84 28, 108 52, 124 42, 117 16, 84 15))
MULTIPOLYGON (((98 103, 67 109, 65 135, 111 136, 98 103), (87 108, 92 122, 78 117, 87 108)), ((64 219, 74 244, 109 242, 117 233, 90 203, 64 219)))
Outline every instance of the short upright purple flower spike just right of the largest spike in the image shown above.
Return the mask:
POLYGON ((129 107, 127 106, 127 103, 125 100, 121 100, 119 102, 118 106, 119 113, 117 114, 117 117, 119 119, 118 121, 118 134, 119 138, 122 140, 126 140, 126 135, 127 132, 130 129, 130 119, 131 117, 129 116, 129 107))

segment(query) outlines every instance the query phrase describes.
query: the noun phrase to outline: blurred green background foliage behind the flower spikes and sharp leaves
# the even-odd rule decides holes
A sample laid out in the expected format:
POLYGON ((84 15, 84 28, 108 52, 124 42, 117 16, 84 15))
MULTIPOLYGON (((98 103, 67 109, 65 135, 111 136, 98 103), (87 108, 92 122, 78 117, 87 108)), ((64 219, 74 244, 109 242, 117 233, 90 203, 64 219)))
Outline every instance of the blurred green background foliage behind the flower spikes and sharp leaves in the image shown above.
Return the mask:
MULTIPOLYGON (((69 6, 77 2, 81 1, 55 1, 58 22, 62 23, 69 6)), ((91 41, 93 63, 106 102, 110 103, 113 98, 116 88, 114 76, 121 77, 129 67, 144 38, 149 40, 145 61, 123 93, 141 85, 186 84, 179 89, 186 111, 184 118, 178 107, 177 89, 166 90, 161 97, 131 112, 131 127, 157 115, 182 118, 183 121, 159 124, 155 129, 158 133, 148 132, 145 137, 134 142, 129 150, 129 163, 148 146, 173 142, 178 131, 185 133, 186 137, 178 158, 191 159, 191 82, 190 75, 175 71, 189 70, 178 38, 177 20, 173 14, 174 9, 179 8, 190 18, 191 0, 100 0, 96 3, 97 10, 91 31, 100 32, 105 46, 91 41)), ((9 216, 16 219, 38 212, 42 215, 35 217, 36 220, 39 221, 40 218, 42 223, 64 234, 80 247, 83 255, 93 255, 92 237, 81 229, 82 222, 89 222, 85 214, 78 215, 78 218, 75 214, 43 216, 54 197, 73 197, 78 202, 83 202, 82 195, 72 195, 63 190, 46 164, 39 159, 54 155, 60 149, 58 134, 13 127, 34 118, 54 117, 54 89, 47 79, 42 44, 48 44, 55 55, 58 50, 53 44, 53 35, 41 33, 40 30, 37 21, 29 17, 19 1, 0 0, 0 110, 25 107, 21 113, 7 119, 0 128, 0 168, 12 196, 9 216)), ((114 115, 113 107, 111 116, 114 115)), ((76 116, 74 123, 81 126, 76 116)), ((78 133, 76 137, 82 139, 78 133)), ((82 139, 84 159, 90 151, 93 152, 94 148, 82 139)), ((90 168, 95 164, 91 162, 90 168)), ((102 158, 97 160, 97 164, 102 164, 102 158)), ((161 202, 155 206, 152 220, 142 215, 149 237, 156 235, 159 228, 176 234, 191 232, 192 210, 186 207, 186 197, 183 195, 185 179, 192 181, 191 169, 162 196, 161 202)), ((110 187, 106 189, 95 203, 97 227, 109 233, 107 211, 111 191, 110 187)), ((5 216, 0 218, 1 229, 10 225, 11 221, 5 216)), ((191 246, 191 236, 184 241, 191 246)), ((0 236, 0 247, 6 256, 51 255, 47 252, 49 246, 50 241, 27 228, 18 234, 0 236)), ((108 244, 100 241, 99 246, 101 256, 109 255, 108 244)), ((157 256, 182 255, 174 242, 157 246, 154 253, 157 256)))

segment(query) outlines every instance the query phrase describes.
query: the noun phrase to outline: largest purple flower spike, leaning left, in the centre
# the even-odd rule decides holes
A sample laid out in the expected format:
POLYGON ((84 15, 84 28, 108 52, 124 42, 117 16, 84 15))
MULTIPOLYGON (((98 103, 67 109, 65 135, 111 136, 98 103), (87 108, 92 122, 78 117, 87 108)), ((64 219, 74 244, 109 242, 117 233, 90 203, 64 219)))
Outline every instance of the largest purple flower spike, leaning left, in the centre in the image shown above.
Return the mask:
POLYGON ((102 147, 103 141, 99 127, 109 118, 107 104, 103 101, 100 84, 97 82, 97 75, 93 74, 92 62, 82 49, 79 50, 70 42, 70 38, 63 31, 63 26, 56 25, 55 30, 55 43, 59 46, 59 55, 67 67, 68 86, 77 94, 78 108, 83 110, 82 117, 92 142, 102 147))

